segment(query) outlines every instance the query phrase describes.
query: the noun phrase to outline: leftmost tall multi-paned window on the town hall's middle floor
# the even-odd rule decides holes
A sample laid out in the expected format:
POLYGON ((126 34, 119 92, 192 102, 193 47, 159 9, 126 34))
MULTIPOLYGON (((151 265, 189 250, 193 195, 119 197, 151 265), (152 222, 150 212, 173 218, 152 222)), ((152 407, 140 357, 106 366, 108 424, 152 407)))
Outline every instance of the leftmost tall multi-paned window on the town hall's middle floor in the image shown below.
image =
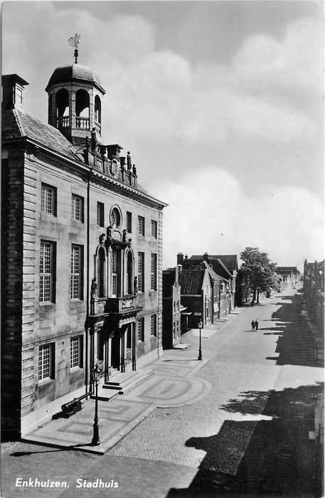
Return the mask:
POLYGON ((40 302, 54 302, 55 244, 41 240, 40 253, 40 302))

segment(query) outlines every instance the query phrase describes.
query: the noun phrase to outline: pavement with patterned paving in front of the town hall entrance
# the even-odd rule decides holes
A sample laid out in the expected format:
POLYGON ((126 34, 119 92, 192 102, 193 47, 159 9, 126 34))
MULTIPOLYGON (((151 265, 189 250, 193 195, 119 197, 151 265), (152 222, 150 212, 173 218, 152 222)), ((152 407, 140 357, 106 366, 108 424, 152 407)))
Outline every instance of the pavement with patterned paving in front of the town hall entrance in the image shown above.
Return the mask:
MULTIPOLYGON (((241 311, 241 310, 240 310, 241 311)), ((238 311, 239 312, 239 311, 238 311)), ((231 319, 236 311, 228 316, 231 319)), ((216 322, 202 329, 202 337, 218 332, 225 322, 216 322)), ((187 349, 169 349, 161 359, 146 366, 151 374, 122 396, 98 401, 101 444, 92 446, 95 400, 82 403, 82 410, 70 418, 57 418, 28 433, 26 443, 69 448, 103 455, 124 438, 156 408, 176 408, 198 403, 211 391, 211 384, 195 374, 208 362, 198 361, 198 330, 183 334, 187 349)))

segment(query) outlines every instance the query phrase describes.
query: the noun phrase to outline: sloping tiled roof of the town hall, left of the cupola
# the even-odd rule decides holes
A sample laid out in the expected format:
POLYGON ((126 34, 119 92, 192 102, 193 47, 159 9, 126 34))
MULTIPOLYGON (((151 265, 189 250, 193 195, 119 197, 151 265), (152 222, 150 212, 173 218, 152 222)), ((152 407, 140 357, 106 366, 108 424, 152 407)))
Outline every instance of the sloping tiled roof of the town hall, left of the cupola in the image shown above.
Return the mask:
POLYGON ((9 110, 2 113, 2 140, 28 137, 39 144, 76 159, 73 146, 58 129, 45 124, 23 110, 9 110))

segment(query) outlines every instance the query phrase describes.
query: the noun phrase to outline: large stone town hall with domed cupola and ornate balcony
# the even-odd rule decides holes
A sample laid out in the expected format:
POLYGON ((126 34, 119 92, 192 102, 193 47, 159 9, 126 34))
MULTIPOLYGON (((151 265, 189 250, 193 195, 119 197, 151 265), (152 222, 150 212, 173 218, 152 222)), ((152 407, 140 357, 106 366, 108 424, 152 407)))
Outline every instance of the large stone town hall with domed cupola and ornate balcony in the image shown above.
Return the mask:
MULTIPOLYGON (((162 212, 131 154, 102 139, 104 88, 74 63, 50 77, 48 124, 2 78, 3 430, 23 435, 162 349, 162 212)), ((26 90, 25 90, 26 91, 26 90)))

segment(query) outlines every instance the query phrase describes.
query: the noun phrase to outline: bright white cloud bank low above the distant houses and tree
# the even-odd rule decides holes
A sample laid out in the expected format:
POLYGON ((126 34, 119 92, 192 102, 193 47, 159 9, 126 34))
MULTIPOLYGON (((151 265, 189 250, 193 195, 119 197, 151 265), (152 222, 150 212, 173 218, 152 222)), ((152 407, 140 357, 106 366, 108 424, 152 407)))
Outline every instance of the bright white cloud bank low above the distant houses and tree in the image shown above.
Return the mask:
POLYGON ((291 186, 247 194, 239 182, 211 165, 181 185, 160 185, 164 210, 164 264, 176 254, 240 253, 259 247, 279 265, 299 265, 323 254, 323 206, 318 196, 291 186))

